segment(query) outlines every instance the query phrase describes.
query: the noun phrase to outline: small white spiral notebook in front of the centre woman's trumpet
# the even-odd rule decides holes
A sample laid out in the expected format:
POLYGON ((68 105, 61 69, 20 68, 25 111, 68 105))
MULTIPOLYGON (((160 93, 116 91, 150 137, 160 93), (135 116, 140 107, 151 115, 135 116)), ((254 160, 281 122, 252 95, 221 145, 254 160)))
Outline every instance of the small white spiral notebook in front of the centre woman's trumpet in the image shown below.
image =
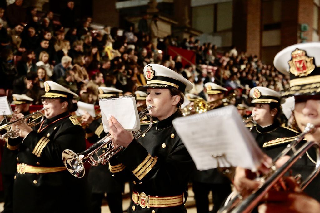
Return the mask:
POLYGON ((140 129, 137 104, 132 95, 100 98, 99 105, 105 132, 109 132, 110 129, 107 119, 110 116, 115 117, 126 130, 137 131, 140 129))

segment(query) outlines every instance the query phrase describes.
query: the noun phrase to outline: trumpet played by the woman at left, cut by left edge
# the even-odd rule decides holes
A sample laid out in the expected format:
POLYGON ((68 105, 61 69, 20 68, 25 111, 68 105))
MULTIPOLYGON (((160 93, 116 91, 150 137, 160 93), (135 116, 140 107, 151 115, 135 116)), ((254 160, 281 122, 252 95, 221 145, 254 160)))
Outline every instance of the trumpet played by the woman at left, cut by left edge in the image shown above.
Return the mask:
MULTIPOLYGON (((7 124, 4 124, 4 125, 0 126, 0 131, 4 130, 4 129, 7 129, 7 128, 10 128, 12 125, 20 123, 20 122, 25 122, 30 127, 36 126, 36 125, 40 124, 44 120, 44 114, 43 114, 44 110, 45 110, 45 107, 42 108, 41 110, 38 110, 38 111, 35 111, 35 112, 33 112, 33 113, 29 114, 29 115, 26 115, 23 118, 20 118, 18 120, 12 121, 12 122, 7 123, 7 124), (33 120, 30 120, 30 118, 32 118, 34 116, 37 116, 38 114, 42 117, 40 121, 35 122, 35 120, 37 120, 40 116, 36 117, 33 120)), ((13 131, 8 130, 7 133, 5 133, 3 135, 0 135, 0 140, 5 140, 5 139, 10 138, 12 136, 16 136, 19 133, 19 131, 20 131, 20 129, 16 129, 16 130, 13 130, 13 131)))

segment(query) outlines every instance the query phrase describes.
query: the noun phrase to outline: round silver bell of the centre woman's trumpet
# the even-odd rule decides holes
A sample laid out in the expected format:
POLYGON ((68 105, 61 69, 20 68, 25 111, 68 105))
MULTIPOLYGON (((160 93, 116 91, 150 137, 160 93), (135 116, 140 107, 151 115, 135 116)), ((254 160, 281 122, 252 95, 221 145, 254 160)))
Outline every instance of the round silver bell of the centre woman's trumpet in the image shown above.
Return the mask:
MULTIPOLYGON (((81 155, 80 155, 81 156, 81 155)), ((62 152, 62 160, 67 170, 75 177, 82 178, 84 176, 84 161, 70 149, 62 152)))

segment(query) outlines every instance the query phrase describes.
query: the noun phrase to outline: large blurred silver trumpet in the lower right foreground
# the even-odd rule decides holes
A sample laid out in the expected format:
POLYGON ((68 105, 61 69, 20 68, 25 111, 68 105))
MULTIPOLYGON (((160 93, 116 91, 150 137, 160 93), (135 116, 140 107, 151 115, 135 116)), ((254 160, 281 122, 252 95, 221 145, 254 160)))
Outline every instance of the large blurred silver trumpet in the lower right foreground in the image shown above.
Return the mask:
POLYGON ((303 156, 309 148, 316 147, 316 167, 312 173, 305 179, 301 184, 300 188, 305 189, 308 184, 316 177, 320 171, 320 146, 314 141, 309 141, 305 143, 302 147, 296 150, 296 145, 303 140, 304 136, 308 133, 312 133, 315 129, 315 126, 308 123, 304 131, 298 135, 294 141, 292 141, 274 160, 276 162, 281 157, 287 155, 289 151, 293 151, 293 155, 290 159, 280 168, 276 169, 275 163, 272 164, 269 174, 262 177, 262 183, 257 190, 252 194, 242 197, 240 194, 237 194, 233 199, 231 199, 226 206, 222 207, 220 213, 249 213, 252 209, 260 202, 260 200, 268 193, 268 191, 274 186, 280 178, 291 168, 291 166, 303 156))

